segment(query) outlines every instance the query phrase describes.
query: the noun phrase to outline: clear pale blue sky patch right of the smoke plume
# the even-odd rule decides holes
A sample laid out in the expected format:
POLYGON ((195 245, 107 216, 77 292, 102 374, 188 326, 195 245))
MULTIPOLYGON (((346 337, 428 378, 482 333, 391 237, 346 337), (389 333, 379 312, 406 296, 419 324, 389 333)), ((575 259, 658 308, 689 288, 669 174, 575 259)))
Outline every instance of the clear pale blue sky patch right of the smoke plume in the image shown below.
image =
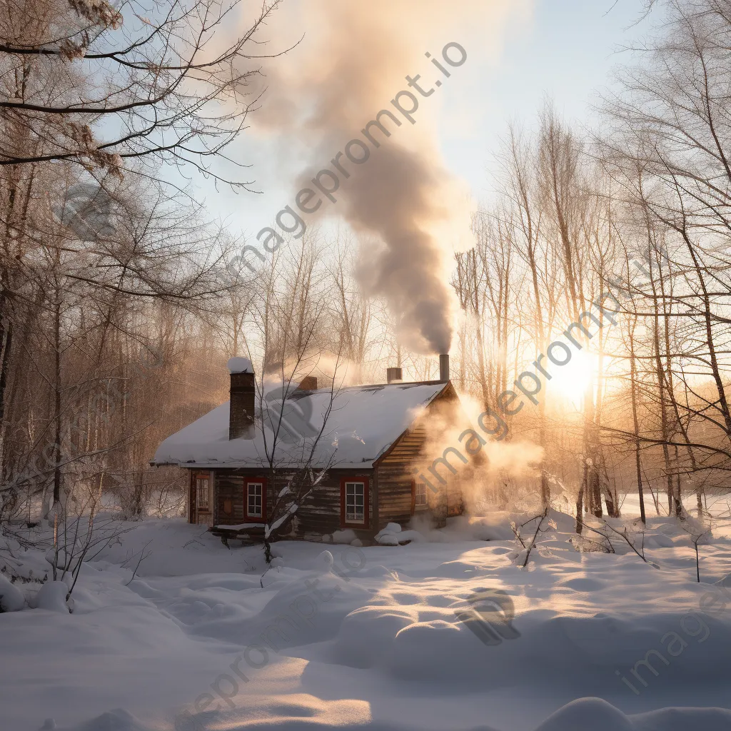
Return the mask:
POLYGON ((474 88, 481 130, 469 138, 440 134, 450 169, 469 181, 476 197, 490 187, 486 168, 497 138, 511 119, 534 124, 545 96, 567 121, 594 122, 596 90, 610 83, 612 68, 627 58, 618 49, 642 33, 629 28, 642 0, 618 0, 610 10, 613 1, 537 0, 528 26, 512 29, 499 67, 485 72, 474 88))

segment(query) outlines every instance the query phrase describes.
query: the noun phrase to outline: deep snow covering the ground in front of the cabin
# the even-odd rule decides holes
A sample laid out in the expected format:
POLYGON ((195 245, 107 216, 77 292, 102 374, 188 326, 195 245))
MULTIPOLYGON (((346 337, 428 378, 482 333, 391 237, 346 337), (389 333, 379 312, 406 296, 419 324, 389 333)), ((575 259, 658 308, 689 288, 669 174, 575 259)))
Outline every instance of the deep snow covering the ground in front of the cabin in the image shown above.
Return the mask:
MULTIPOLYGON (((731 729, 731 519, 700 545, 697 583, 689 538, 654 507, 648 563, 619 537, 616 554, 577 552, 554 513, 522 569, 510 519, 529 517, 458 518, 408 545, 279 542, 267 572, 261 548, 200 526, 127 523, 84 567, 73 613, 53 588, 46 604, 13 585, 50 608, 0 614, 0 727, 731 729), (469 602, 478 590, 503 613, 469 602)), ((37 576, 43 554, 21 553, 37 576)))

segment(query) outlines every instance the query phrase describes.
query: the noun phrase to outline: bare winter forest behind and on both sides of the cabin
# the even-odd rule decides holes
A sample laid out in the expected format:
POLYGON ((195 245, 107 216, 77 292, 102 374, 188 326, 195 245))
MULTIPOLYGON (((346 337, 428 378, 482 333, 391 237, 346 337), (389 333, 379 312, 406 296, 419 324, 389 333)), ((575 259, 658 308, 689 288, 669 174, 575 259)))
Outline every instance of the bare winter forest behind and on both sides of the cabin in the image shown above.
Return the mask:
MULTIPOLYGON (((148 15, 4 4, 0 520, 105 494, 130 516, 181 504, 177 471, 149 461, 225 400, 232 355, 262 374, 436 377, 366 295, 354 235, 323 225, 234 271, 238 234, 194 200, 196 175, 249 194, 232 143, 256 113, 257 57, 281 52, 260 39, 278 4, 237 37, 235 7, 218 0, 161 0, 148 15)), ((503 503, 563 491, 578 529, 585 512, 616 514, 626 491, 644 495, 643 516, 702 511, 731 469, 731 4, 648 12, 658 30, 618 70, 599 129, 549 102, 507 129, 474 249, 445 273, 452 381, 482 407, 586 325, 573 330, 582 365, 567 365, 576 393, 548 381, 507 417, 509 440, 543 448, 537 473, 488 480, 503 503), (599 330, 585 313, 605 292, 616 324, 599 330)))

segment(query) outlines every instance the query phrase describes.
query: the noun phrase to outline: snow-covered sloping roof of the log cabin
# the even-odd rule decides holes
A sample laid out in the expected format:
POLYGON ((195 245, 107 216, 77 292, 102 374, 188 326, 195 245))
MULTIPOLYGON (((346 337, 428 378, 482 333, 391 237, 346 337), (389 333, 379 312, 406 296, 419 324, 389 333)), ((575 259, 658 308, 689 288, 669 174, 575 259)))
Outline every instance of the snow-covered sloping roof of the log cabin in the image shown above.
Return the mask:
MULTIPOLYGON (((342 388, 333 397, 333 408, 317 441, 311 466, 370 468, 446 387, 444 382, 421 382, 342 388)), ((260 414, 257 419, 254 439, 228 438, 227 401, 168 436, 158 447, 152 464, 268 466, 274 441, 272 427, 283 414, 274 463, 280 467, 301 465, 322 429, 330 398, 330 389, 295 391, 282 409, 281 401, 268 397, 264 417, 260 414)))

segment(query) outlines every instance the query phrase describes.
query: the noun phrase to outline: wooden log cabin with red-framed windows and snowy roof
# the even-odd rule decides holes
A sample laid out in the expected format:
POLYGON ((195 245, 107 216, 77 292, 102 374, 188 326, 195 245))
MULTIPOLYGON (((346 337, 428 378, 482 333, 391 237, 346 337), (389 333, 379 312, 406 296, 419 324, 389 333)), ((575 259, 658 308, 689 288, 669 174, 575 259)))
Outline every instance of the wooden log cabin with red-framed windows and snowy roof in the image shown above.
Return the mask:
POLYGON ((230 401, 165 439, 151 462, 188 472, 190 523, 224 539, 262 534, 306 460, 325 473, 280 538, 368 543, 388 523, 418 516, 438 528, 463 513, 461 485, 479 462, 440 438, 469 428, 447 355, 436 381, 403 382, 401 368, 388 368, 386 383, 333 391, 308 376, 257 408, 251 362, 232 358, 229 371, 230 401), (277 407, 278 440, 267 402, 277 407))

